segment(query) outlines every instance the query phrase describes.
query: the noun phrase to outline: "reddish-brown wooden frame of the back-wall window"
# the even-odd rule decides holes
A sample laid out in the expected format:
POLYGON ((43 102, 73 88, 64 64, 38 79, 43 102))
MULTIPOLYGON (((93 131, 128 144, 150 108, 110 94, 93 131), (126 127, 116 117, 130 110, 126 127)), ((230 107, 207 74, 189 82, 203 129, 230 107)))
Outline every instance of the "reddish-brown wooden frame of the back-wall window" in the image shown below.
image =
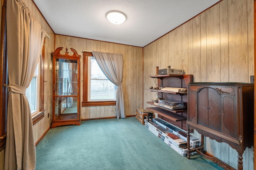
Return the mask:
POLYGON ((89 57, 94 57, 92 52, 83 51, 83 97, 82 97, 82 107, 85 106, 111 106, 116 105, 116 101, 106 100, 106 101, 88 101, 88 59, 89 57))

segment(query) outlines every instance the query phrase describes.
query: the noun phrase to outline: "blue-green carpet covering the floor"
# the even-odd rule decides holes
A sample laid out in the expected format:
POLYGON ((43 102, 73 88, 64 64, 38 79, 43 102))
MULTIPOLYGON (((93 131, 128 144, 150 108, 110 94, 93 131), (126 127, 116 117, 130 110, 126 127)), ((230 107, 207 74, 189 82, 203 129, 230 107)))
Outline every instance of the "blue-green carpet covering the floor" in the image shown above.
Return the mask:
POLYGON ((36 170, 185 169, 223 168, 198 154, 180 156, 135 117, 50 129, 36 147, 36 170))

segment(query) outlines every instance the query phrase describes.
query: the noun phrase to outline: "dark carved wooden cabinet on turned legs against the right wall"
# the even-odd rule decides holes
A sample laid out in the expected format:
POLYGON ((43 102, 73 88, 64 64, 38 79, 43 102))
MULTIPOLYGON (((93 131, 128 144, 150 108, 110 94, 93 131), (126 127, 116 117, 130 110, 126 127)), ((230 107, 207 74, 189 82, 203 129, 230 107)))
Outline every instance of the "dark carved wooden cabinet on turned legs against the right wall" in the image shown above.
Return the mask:
MULTIPOLYGON (((204 136, 225 142, 238 152, 238 170, 243 169, 242 154, 252 147, 254 139, 254 84, 209 83, 188 84, 188 158, 195 150, 204 152, 204 136), (189 130, 201 134, 202 146, 189 149, 189 130)), ((218 158, 206 156, 230 169, 218 158)))

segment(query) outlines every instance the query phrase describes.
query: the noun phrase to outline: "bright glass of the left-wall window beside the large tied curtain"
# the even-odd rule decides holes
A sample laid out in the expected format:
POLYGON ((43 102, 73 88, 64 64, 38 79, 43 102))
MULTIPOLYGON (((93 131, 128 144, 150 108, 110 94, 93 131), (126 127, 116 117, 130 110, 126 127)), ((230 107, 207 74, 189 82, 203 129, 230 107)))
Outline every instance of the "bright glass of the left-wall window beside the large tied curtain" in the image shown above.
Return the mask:
POLYGON ((33 77, 26 89, 26 96, 30 105, 31 113, 36 110, 36 77, 33 77))

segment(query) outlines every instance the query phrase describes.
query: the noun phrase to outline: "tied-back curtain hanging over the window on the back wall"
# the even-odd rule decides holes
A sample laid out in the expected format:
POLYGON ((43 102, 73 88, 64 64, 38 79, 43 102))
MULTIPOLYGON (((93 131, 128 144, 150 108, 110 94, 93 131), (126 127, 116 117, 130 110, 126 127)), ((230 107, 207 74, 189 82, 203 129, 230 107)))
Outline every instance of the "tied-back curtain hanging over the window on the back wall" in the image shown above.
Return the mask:
POLYGON ((124 93, 123 93, 123 69, 124 61, 122 54, 103 53, 92 51, 98 65, 105 76, 117 86, 116 91, 116 118, 125 118, 124 93))

